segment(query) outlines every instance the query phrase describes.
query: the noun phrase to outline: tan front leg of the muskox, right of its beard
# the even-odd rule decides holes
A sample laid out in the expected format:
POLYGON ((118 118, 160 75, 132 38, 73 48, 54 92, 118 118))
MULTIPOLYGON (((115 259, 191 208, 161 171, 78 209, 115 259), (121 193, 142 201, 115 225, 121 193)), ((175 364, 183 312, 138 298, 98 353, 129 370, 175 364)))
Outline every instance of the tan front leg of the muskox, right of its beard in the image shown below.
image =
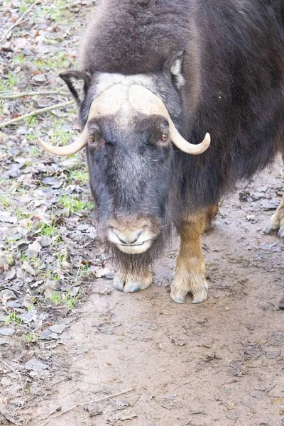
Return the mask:
POLYGON ((175 265, 175 278, 170 288, 174 302, 184 303, 188 293, 192 303, 207 299, 207 282, 204 277, 205 262, 202 254, 201 234, 207 226, 207 212, 188 217, 178 229, 180 251, 175 265))

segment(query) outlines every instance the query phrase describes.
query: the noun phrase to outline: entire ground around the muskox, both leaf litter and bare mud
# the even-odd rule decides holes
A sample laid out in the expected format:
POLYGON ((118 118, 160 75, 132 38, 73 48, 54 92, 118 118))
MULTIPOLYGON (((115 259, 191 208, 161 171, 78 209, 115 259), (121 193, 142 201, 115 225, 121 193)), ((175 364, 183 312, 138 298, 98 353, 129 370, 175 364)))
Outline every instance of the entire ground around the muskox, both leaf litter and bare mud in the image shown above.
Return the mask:
MULTIPOLYGON (((0 38, 31 4, 4 1, 0 38)), ((53 91, 93 8, 41 1, 6 35, 0 122, 70 100, 53 91), (53 93, 5 98, 42 91, 53 93)), ((284 425, 284 245, 262 232, 283 192, 280 158, 203 236, 208 300, 176 305, 176 238, 151 288, 111 288, 84 153, 66 162, 37 145, 77 131, 74 104, 1 129, 0 424, 284 425)))

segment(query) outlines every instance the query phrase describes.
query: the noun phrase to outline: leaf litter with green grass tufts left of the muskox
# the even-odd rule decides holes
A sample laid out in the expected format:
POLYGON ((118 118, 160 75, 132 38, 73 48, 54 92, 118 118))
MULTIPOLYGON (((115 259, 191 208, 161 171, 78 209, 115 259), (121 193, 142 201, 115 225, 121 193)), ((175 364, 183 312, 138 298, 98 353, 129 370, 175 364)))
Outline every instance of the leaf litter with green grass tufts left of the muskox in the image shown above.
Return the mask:
MULTIPOLYGON (((51 0, 38 1, 6 34, 0 126, 34 109, 70 101, 58 72, 77 61, 74 46, 81 30, 73 24, 74 13, 80 11, 77 19, 83 23, 93 4, 67 0, 60 8, 51 0), (34 92, 45 94, 24 95, 34 92)), ((26 0, 4 0, 1 28, 8 31, 30 6, 26 0)), ((0 381, 1 374, 9 375, 14 386, 20 377, 23 386, 31 387, 42 374, 52 374, 53 351, 70 339, 68 320, 77 316, 94 280, 113 276, 97 242, 84 153, 56 158, 37 143, 38 138, 55 144, 72 140, 79 130, 75 110, 75 104, 55 109, 0 131, 0 371, 6 371, 0 381), (1 370, 11 359, 18 373, 1 370)), ((2 398, 7 403, 0 423, 20 424, 16 413, 28 393, 14 398, 13 386, 6 386, 0 407, 2 398)))

